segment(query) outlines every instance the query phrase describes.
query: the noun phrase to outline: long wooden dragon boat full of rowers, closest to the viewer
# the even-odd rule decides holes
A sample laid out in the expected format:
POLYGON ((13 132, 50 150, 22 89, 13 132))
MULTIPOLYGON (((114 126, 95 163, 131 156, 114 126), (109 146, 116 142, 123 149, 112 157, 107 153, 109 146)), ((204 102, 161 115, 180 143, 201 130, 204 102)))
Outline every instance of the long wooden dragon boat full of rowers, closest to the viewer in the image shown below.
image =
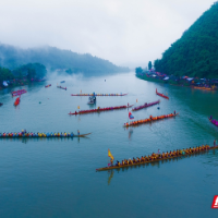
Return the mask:
MULTIPOLYGON (((155 158, 153 158, 153 155, 148 157, 143 157, 143 160, 142 158, 137 158, 135 159, 136 161, 133 162, 133 160, 130 161, 130 159, 126 161, 126 159, 124 159, 124 162, 123 165, 120 164, 120 166, 109 166, 109 167, 104 167, 104 168, 99 168, 99 169, 96 169, 96 171, 105 171, 105 170, 112 170, 112 169, 120 169, 120 168, 128 168, 128 167, 132 167, 132 166, 138 166, 138 165, 144 165, 144 164, 149 164, 149 162, 157 162, 157 161, 161 161, 161 160, 168 160, 168 159, 173 159, 173 158, 178 158, 178 157, 185 157, 185 156, 192 156, 192 155, 195 155, 195 154, 201 154, 201 153, 204 153, 206 150, 210 150, 210 149, 217 149, 218 148, 218 145, 215 145, 215 146, 209 146, 209 145, 206 145, 203 149, 199 149, 199 148, 191 148, 191 152, 186 153, 185 150, 179 150, 179 153, 175 155, 169 155, 167 157, 162 157, 161 154, 155 154, 155 158)), ((187 148, 190 150, 190 148, 187 148)))

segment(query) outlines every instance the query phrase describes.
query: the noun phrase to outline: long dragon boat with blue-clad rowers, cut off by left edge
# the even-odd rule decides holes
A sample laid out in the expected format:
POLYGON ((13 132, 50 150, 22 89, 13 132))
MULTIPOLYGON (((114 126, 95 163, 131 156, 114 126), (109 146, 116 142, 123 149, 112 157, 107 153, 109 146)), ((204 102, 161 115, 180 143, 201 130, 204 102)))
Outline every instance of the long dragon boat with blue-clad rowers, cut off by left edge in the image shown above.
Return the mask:
POLYGON ((85 137, 87 134, 73 134, 73 133, 0 133, 0 137, 85 137))

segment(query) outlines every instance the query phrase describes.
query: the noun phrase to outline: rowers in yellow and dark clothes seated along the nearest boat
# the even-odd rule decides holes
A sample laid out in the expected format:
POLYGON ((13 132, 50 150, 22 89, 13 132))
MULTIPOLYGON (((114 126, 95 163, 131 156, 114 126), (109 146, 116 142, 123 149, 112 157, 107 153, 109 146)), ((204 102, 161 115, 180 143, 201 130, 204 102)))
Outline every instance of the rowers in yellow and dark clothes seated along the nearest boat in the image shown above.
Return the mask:
MULTIPOLYGON (((142 156, 141 158, 136 157, 136 159, 133 157, 133 159, 124 159, 121 162, 117 160, 116 166, 120 167, 120 166, 124 166, 124 165, 133 165, 133 164, 138 164, 138 162, 149 162, 153 160, 160 160, 160 159, 166 159, 166 158, 171 158, 171 157, 178 157, 178 156, 182 156, 182 155, 189 155, 189 154, 193 154, 193 153, 198 153, 202 150, 206 150, 209 148, 209 145, 202 145, 202 146, 196 146, 193 148, 186 148, 186 149, 177 149, 173 152, 167 152, 167 153, 162 153, 162 154, 155 154, 153 153, 152 155, 148 156, 142 156)), ((111 162, 112 165, 112 162, 111 162)))

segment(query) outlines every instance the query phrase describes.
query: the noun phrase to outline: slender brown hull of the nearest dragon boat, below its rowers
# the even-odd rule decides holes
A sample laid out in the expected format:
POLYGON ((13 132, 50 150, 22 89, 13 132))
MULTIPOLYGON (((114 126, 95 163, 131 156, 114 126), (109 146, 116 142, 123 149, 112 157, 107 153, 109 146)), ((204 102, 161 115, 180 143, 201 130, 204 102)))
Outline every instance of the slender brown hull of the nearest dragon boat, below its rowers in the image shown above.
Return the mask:
POLYGON ((110 167, 104 167, 104 168, 99 168, 99 169, 96 169, 96 171, 105 171, 105 170, 112 170, 112 169, 120 169, 120 168, 126 168, 126 167, 132 167, 132 166, 137 166, 137 165, 144 165, 144 164, 149 164, 149 162, 158 162, 158 161, 161 161, 161 160, 168 160, 168 159, 174 159, 174 158, 178 158, 178 157, 185 157, 185 156, 192 156, 192 155, 196 155, 196 154, 201 154, 201 153, 205 153, 207 150, 210 150, 210 149, 217 149, 218 148, 218 145, 216 146, 207 146, 207 148, 203 149, 203 150, 198 150, 198 152, 193 152, 193 153, 189 153, 189 154, 183 154, 183 155, 175 155, 175 156, 168 156, 166 158, 161 158, 161 155, 158 155, 157 159, 153 159, 153 160, 145 160, 145 161, 137 161, 137 162, 133 162, 133 164, 129 164, 129 165, 120 165, 120 166, 110 166, 110 167))

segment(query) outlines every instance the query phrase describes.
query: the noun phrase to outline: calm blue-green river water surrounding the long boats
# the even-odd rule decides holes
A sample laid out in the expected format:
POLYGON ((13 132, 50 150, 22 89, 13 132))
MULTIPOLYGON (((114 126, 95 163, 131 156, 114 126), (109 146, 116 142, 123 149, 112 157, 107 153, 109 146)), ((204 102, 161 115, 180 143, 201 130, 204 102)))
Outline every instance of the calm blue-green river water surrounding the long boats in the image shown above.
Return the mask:
POLYGON ((213 145, 218 129, 207 117, 218 119, 218 92, 146 82, 134 72, 104 77, 59 75, 25 88, 16 108, 11 89, 0 90, 4 104, 0 132, 92 134, 87 138, 1 138, 1 217, 218 217, 218 210, 211 209, 218 194, 218 150, 96 172, 107 166, 108 148, 116 160, 122 160, 158 149, 213 145), (68 90, 57 88, 63 80, 68 90), (49 83, 51 87, 45 88, 49 83), (170 99, 158 97, 156 88, 170 99), (179 117, 129 130, 123 128, 128 109, 70 117, 78 106, 92 108, 88 97, 71 96, 81 90, 129 93, 97 97, 96 107, 161 100, 159 106, 132 112, 136 120, 174 110, 179 117))

